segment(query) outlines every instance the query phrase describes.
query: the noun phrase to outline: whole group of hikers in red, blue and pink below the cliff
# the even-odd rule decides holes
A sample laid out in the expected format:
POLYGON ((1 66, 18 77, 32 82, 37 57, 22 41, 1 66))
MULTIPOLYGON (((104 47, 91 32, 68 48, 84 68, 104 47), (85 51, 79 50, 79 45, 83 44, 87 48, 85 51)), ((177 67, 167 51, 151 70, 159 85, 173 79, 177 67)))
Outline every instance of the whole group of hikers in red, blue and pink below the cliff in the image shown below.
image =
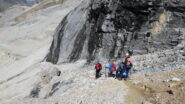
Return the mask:
MULTIPOLYGON (((115 61, 110 61, 108 66, 105 67, 105 71, 106 69, 109 70, 108 72, 109 77, 116 77, 119 80, 122 80, 122 78, 127 79, 129 77, 129 72, 132 66, 133 60, 131 58, 131 55, 129 53, 126 53, 125 58, 122 61, 118 62, 117 64, 115 61), (113 74, 114 72, 116 72, 116 74, 113 74)), ((100 72, 102 70, 102 65, 99 61, 97 61, 95 65, 95 70, 96 70, 95 77, 99 78, 100 72)))

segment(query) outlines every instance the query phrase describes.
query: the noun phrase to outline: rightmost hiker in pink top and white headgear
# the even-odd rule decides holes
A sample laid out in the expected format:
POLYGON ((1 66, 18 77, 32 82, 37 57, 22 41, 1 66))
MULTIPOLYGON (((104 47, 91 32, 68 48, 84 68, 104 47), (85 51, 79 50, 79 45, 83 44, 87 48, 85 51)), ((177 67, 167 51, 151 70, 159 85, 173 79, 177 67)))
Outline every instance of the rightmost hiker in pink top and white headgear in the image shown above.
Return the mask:
POLYGON ((125 78, 129 77, 129 72, 133 66, 133 60, 131 58, 131 55, 129 53, 126 53, 126 57, 125 57, 125 65, 126 65, 126 76, 125 78))

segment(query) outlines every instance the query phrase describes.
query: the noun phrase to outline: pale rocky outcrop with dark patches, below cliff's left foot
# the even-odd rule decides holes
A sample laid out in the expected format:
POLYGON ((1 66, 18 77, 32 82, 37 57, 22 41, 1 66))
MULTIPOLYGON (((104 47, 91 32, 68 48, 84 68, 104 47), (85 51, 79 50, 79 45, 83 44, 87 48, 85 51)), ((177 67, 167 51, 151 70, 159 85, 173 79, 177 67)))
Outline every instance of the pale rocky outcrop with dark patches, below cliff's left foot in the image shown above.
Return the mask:
POLYGON ((57 91, 57 87, 60 85, 57 78, 61 71, 58 68, 47 63, 43 63, 41 68, 42 71, 39 73, 40 82, 30 92, 32 98, 48 98, 57 91))

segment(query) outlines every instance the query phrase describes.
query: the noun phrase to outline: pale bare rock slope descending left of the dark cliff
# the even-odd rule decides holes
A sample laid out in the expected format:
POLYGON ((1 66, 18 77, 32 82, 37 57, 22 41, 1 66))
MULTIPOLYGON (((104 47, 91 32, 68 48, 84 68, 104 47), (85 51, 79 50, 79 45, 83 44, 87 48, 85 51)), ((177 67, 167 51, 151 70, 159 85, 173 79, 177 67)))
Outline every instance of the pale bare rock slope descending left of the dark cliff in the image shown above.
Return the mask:
POLYGON ((35 11, 29 19, 19 22, 7 20, 0 28, 1 103, 29 96, 38 80, 37 77, 35 80, 32 78, 40 71, 35 65, 46 56, 55 28, 80 2, 67 0, 35 11))

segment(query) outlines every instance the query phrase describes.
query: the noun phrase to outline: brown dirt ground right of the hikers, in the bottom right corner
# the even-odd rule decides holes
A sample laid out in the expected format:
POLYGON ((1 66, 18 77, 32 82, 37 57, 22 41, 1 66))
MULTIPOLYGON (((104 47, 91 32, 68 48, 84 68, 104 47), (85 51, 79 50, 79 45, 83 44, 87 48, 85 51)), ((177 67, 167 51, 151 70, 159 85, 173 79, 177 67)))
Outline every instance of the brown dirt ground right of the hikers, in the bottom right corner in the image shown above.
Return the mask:
POLYGON ((185 69, 134 75, 124 83, 130 104, 185 104, 185 69))

